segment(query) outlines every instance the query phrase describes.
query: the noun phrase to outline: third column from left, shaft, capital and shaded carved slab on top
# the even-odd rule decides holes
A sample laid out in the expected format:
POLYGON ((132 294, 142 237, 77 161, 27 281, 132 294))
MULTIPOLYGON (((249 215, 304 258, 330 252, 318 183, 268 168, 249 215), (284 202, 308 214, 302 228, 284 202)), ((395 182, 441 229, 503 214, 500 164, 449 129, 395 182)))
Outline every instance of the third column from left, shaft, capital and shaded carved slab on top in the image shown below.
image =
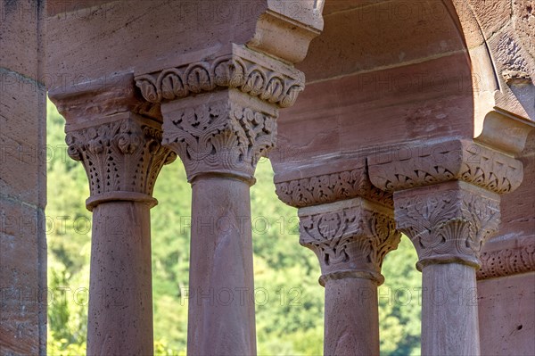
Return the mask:
POLYGON ((364 161, 351 165, 350 171, 279 182, 276 192, 300 208, 300 244, 321 266, 325 355, 378 355, 377 286, 384 280, 383 258, 398 247, 400 234, 391 195, 371 186, 364 161))

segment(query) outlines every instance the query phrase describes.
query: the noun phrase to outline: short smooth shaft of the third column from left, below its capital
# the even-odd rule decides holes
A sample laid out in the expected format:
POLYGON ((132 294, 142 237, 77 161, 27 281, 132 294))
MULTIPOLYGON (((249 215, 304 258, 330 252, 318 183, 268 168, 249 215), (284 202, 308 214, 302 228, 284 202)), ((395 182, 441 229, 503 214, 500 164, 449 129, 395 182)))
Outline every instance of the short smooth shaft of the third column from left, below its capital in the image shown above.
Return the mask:
POLYGON ((377 284, 365 278, 325 284, 325 356, 379 355, 377 284))

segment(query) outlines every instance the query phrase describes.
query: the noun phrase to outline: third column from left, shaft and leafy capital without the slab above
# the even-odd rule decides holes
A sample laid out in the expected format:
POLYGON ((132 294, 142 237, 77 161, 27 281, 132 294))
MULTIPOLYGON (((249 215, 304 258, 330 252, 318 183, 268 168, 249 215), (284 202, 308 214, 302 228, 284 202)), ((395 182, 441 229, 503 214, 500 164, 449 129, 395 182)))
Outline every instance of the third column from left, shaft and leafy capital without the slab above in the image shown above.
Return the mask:
POLYGON ((325 355, 378 355, 381 265, 397 248, 391 211, 355 198, 302 208, 300 244, 317 254, 325 287, 325 355))

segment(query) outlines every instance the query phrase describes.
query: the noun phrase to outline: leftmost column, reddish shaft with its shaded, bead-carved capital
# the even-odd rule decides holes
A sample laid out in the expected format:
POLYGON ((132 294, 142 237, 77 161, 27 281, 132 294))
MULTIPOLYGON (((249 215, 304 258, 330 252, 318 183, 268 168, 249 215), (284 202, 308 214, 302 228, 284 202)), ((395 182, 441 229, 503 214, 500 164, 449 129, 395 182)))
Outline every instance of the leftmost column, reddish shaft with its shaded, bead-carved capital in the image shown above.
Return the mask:
POLYGON ((133 112, 67 125, 93 211, 87 355, 152 355, 150 209, 161 167, 161 123, 133 112))

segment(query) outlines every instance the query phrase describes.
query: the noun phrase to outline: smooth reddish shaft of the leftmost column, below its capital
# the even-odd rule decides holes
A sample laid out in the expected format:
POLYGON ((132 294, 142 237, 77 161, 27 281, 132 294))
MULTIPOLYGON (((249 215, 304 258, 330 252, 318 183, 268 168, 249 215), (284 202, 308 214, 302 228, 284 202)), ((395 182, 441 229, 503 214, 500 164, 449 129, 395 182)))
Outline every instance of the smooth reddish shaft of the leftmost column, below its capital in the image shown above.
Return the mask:
POLYGON ((87 355, 152 355, 149 205, 111 202, 93 211, 87 355))

